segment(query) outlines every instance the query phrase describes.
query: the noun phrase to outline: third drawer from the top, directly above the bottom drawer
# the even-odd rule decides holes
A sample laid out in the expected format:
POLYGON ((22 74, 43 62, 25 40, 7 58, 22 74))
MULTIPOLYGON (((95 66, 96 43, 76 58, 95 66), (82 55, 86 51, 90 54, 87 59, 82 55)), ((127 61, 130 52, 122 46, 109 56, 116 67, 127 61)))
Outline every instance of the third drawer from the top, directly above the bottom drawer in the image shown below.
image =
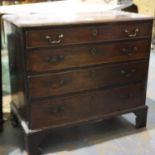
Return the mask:
POLYGON ((28 77, 30 98, 42 98, 146 80, 147 63, 130 62, 28 77))

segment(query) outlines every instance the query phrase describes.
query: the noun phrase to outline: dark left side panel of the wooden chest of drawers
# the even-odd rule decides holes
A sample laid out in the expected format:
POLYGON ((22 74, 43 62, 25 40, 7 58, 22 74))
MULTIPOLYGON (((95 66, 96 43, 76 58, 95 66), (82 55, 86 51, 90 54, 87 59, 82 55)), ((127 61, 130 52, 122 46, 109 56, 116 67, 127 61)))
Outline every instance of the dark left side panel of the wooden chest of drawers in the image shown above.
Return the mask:
POLYGON ((17 35, 15 27, 12 28, 13 33, 7 35, 8 42, 8 55, 9 55, 9 70, 10 70, 10 82, 11 82, 11 98, 15 103, 16 108, 20 109, 18 112, 22 119, 28 119, 27 111, 28 104, 25 104, 26 90, 24 86, 24 55, 21 52, 22 43, 19 44, 20 38, 17 35))

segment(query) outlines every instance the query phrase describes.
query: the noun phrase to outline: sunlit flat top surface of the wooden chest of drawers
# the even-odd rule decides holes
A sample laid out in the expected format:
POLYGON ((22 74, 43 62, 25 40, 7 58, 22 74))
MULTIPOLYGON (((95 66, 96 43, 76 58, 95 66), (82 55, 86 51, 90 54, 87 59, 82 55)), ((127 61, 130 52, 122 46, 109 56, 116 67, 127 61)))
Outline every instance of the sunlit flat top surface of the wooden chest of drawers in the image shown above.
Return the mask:
POLYGON ((150 16, 123 11, 78 11, 69 10, 61 13, 35 13, 20 15, 4 15, 3 19, 17 27, 40 27, 59 25, 78 25, 108 22, 123 22, 135 20, 152 20, 150 16))

